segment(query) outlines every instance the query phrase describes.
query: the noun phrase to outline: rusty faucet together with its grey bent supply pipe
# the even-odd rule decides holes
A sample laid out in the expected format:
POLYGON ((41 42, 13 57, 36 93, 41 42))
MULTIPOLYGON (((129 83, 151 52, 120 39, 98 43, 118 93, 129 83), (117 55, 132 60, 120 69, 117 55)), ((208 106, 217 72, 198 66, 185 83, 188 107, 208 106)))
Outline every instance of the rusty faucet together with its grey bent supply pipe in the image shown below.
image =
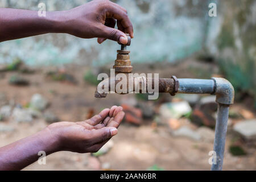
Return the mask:
MULTIPOLYGON (((128 36, 128 43, 126 45, 121 44, 121 50, 117 51, 117 59, 113 68, 116 73, 123 73, 126 77, 129 77, 129 73, 133 71, 131 66, 130 51, 126 50, 126 46, 130 46, 131 39, 128 36)), ((113 79, 114 86, 120 80, 115 80, 115 78, 107 78, 103 80, 100 84, 106 83, 111 89, 111 79, 113 79)), ((129 79, 127 79, 129 80, 129 79)), ((127 82, 127 90, 129 92, 134 92, 134 88, 139 86, 140 93, 142 90, 142 85, 152 84, 155 86, 154 78, 146 78, 143 76, 133 77, 133 90, 129 90, 129 81, 127 82)), ((232 84, 225 78, 211 78, 208 80, 205 79, 191 79, 191 78, 180 78, 177 79, 175 76, 171 78, 158 78, 158 90, 164 93, 170 93, 171 96, 174 96, 176 93, 187 93, 187 94, 213 94, 216 95, 216 102, 218 104, 217 119, 216 119, 216 129, 215 129, 215 138, 213 151, 216 152, 216 156, 213 156, 212 170, 222 170, 222 164, 224 159, 224 150, 225 150, 225 140, 226 140, 226 130, 228 127, 228 114, 229 106, 234 102, 234 88, 232 84)), ((99 85, 100 85, 99 84, 99 85)), ((115 88, 115 87, 114 87, 115 88)), ((147 87, 146 87, 147 88, 147 87)), ((112 90, 113 91, 113 90, 112 90)), ((115 93, 120 93, 118 90, 114 90, 115 93)), ((146 90, 148 92, 148 90, 146 90)), ((96 89, 95 97, 102 98, 106 97, 107 93, 98 93, 96 89)), ((207 154, 208 155, 208 154, 207 154)))

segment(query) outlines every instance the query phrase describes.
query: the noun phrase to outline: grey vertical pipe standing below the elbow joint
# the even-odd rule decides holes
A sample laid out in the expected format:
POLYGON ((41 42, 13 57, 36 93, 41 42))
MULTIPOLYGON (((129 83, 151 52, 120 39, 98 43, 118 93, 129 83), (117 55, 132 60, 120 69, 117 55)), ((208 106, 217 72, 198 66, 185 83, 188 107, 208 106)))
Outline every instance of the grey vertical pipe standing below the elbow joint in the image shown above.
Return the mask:
POLYGON ((213 151, 216 152, 217 159, 213 159, 212 171, 221 171, 224 151, 225 151, 225 141, 226 141, 226 130, 228 128, 228 117, 229 117, 229 105, 218 104, 217 111, 217 121, 215 127, 215 138, 213 144, 213 151), (214 164, 214 162, 216 162, 214 164))

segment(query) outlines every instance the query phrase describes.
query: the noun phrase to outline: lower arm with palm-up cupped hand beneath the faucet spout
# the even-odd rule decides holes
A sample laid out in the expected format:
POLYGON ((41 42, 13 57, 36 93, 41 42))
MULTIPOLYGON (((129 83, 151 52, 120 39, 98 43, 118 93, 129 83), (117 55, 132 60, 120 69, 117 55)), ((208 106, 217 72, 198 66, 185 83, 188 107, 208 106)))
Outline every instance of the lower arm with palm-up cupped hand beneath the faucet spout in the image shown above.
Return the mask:
POLYGON ((57 122, 42 131, 0 148, 0 170, 20 170, 57 151, 97 152, 117 134, 125 113, 121 106, 104 109, 100 114, 81 122, 57 122))

